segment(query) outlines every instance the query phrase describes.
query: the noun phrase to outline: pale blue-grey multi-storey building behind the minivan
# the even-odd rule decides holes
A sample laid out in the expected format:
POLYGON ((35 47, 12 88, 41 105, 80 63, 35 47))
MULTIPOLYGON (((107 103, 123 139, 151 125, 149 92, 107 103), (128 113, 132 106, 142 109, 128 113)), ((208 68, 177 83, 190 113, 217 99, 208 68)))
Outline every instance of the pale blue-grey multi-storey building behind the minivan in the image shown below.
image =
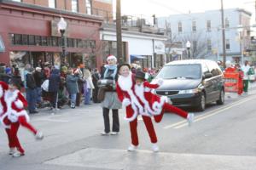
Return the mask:
MULTIPOLYGON (((224 9, 226 60, 241 63, 249 59, 246 50, 250 42, 251 15, 241 8, 224 9)), ((220 10, 161 17, 158 26, 170 32, 168 42, 181 42, 187 49, 186 42, 189 41, 190 58, 223 59, 220 10)))

